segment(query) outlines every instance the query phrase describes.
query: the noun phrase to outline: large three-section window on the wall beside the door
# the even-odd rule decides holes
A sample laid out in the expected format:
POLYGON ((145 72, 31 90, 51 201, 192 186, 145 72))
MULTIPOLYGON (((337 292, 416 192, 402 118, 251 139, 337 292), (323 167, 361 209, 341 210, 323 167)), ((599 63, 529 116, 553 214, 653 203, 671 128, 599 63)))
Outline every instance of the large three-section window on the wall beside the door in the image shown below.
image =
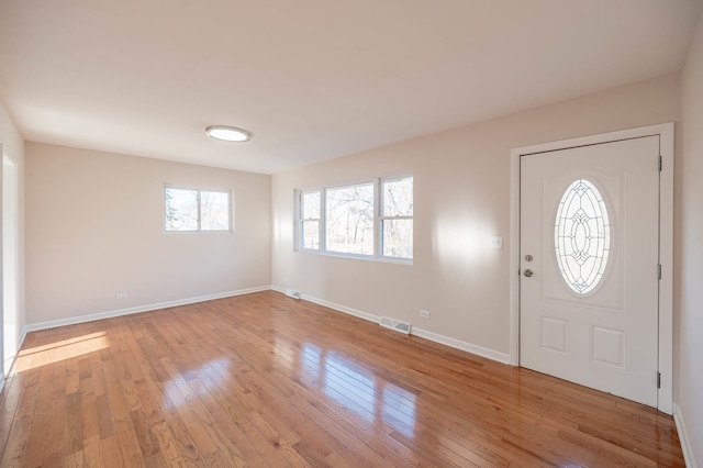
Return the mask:
POLYGON ((413 258, 413 177, 297 191, 298 248, 413 258))

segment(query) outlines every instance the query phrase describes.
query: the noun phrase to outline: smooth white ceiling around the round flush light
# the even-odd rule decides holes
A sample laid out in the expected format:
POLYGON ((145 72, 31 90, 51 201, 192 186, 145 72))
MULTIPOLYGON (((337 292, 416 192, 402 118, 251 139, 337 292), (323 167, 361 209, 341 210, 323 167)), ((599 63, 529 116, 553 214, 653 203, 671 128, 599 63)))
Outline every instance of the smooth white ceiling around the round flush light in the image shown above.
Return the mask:
POLYGON ((27 141, 275 174, 676 71, 700 5, 0 0, 0 99, 27 141))

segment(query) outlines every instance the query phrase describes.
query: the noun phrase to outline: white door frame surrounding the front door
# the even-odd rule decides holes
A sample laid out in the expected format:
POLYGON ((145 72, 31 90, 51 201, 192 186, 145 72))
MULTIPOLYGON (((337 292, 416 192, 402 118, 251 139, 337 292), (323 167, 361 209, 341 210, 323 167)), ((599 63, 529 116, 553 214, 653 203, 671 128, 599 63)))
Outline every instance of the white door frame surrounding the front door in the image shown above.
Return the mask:
POLYGON ((520 366, 520 161, 522 156, 643 136, 659 136, 659 357, 657 409, 673 412, 673 122, 513 148, 510 202, 510 364, 520 366))

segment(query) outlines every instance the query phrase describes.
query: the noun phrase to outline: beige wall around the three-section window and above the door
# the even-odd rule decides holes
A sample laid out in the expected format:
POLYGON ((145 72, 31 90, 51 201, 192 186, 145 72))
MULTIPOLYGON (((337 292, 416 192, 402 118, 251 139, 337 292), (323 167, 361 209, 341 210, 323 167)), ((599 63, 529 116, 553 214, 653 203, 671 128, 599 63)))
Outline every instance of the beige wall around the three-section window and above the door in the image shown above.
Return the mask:
POLYGON ((511 148, 677 121, 679 102, 670 75, 276 175, 272 283, 507 355, 511 148), (415 176, 414 265, 293 252, 295 188, 395 171, 415 176))

